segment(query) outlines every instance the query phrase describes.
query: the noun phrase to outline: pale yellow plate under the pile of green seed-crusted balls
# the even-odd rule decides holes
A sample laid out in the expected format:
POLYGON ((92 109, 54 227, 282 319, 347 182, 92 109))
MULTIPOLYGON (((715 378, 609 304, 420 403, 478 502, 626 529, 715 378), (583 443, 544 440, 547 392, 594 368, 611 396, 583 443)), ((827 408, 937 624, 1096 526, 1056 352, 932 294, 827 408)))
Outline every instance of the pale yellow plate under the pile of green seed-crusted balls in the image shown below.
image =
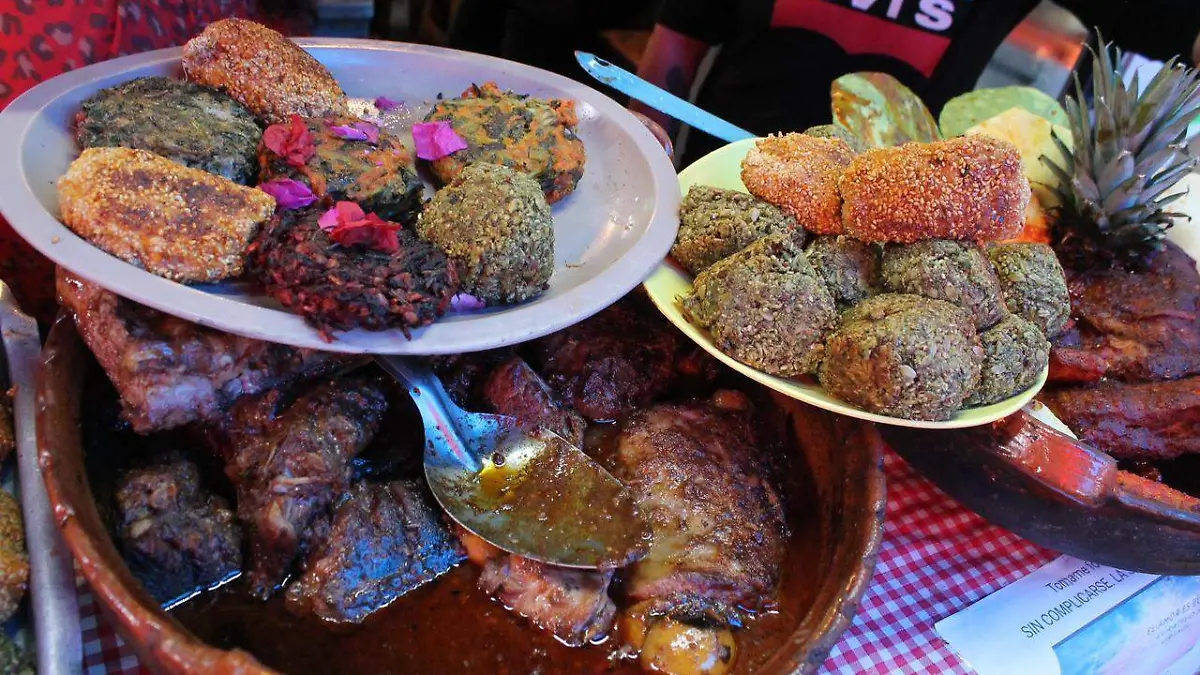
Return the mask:
MULTIPOLYGON (((706 155, 700 161, 679 173, 679 187, 685 195, 692 185, 710 185, 714 187, 725 187, 726 190, 739 190, 745 192, 745 185, 742 184, 742 157, 745 156, 754 143, 754 139, 739 141, 706 155)), ((660 264, 658 269, 654 270, 654 274, 646 280, 646 291, 649 293, 650 299, 654 300, 655 306, 659 307, 659 311, 661 311, 671 321, 671 323, 676 324, 679 330, 683 330, 685 335, 695 340, 696 344, 703 347, 708 353, 713 354, 720 359, 721 363, 728 365, 733 370, 737 370, 742 375, 745 375, 755 382, 766 384, 767 387, 770 387, 772 389, 796 400, 850 417, 877 422, 880 424, 916 426, 920 429, 961 429, 965 426, 979 426, 982 424, 988 424, 989 422, 995 422, 1021 410, 1021 407, 1030 402, 1042 389, 1042 386, 1046 382, 1046 375, 1049 374, 1049 369, 1043 370, 1033 387, 1030 387, 1015 396, 1004 399, 1003 401, 990 406, 961 410, 954 413, 954 417, 946 422, 923 422, 875 414, 852 406, 840 399, 835 399, 829 395, 823 387, 817 384, 816 380, 793 380, 767 375, 761 370, 756 370, 739 363, 716 348, 716 345, 713 344, 708 331, 689 323, 679 311, 679 305, 676 303, 676 298, 691 291, 691 275, 676 264, 674 261, 670 258, 662 261, 662 264, 660 264)))

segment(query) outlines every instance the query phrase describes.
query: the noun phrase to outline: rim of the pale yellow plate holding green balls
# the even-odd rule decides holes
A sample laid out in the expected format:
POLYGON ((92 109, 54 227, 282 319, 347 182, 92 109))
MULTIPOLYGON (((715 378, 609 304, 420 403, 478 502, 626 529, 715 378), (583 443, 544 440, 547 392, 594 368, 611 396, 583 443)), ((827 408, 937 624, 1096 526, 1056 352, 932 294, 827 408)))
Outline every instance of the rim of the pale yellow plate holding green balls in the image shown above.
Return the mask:
MULTIPOLYGON (((700 165, 704 159, 716 154, 727 153, 733 155, 737 153, 742 153, 744 155, 745 151, 749 151, 749 148, 757 141, 758 138, 748 138, 744 141, 728 143, 726 145, 718 148, 716 150, 713 150, 708 155, 704 155, 704 157, 701 157, 696 162, 691 163, 688 168, 679 172, 680 195, 685 196, 688 190, 690 190, 692 185, 702 185, 701 181, 690 180, 690 175, 688 175, 688 173, 689 171, 692 169, 692 167, 700 165), (745 151, 743 149, 745 149, 745 151)), ((655 268, 654 273, 650 274, 649 277, 647 277, 647 280, 643 282, 642 286, 646 288, 646 293, 650 297, 650 301, 654 303, 654 306, 662 313, 664 317, 666 317, 667 321, 670 321, 689 340, 696 342, 697 345, 700 345, 701 348, 712 354, 714 358, 716 358, 725 365, 732 368, 737 372, 744 375, 745 377, 749 377, 762 386, 769 387, 770 389, 779 392, 785 396, 796 399, 797 401, 804 402, 810 406, 815 406, 833 412, 835 414, 844 414, 846 417, 853 417, 856 419, 872 422, 876 424, 886 424, 889 426, 907 426, 912 429, 948 430, 948 429, 968 429, 972 426, 983 426, 985 424, 991 424, 992 422, 996 422, 998 419, 1003 419, 1020 411, 1026 405, 1028 405, 1030 401, 1032 401, 1038 395, 1038 392, 1042 390, 1042 387, 1045 386, 1050 374, 1050 366, 1048 365, 1046 368, 1042 369, 1042 374, 1038 376, 1037 382, 1034 382, 1027 389, 1013 396, 1009 396, 1008 399, 997 401, 995 404, 989 404, 986 406, 978 406, 973 408, 960 408, 955 411, 954 417, 942 422, 932 422, 924 419, 905 419, 902 417, 890 417, 886 414, 872 413, 862 410, 850 404, 848 401, 841 401, 840 399, 838 400, 841 402, 841 407, 836 408, 830 407, 826 401, 821 399, 815 399, 809 395, 804 395, 800 392, 797 392, 794 389, 794 386, 792 386, 794 378, 769 375, 767 372, 763 372, 762 370, 749 366, 734 359, 730 354, 726 354, 720 348, 718 348, 718 346, 713 342, 707 330, 688 322, 686 317, 684 317, 682 311, 679 311, 678 307, 676 306, 674 297, 666 298, 662 293, 659 293, 656 291, 655 280, 656 279, 661 280, 661 277, 665 275, 683 275, 689 279, 691 277, 691 275, 688 274, 688 271, 684 270, 683 267, 679 265, 679 263, 676 262, 674 258, 670 257, 668 255, 662 259, 659 267, 655 268), (697 340, 694 336, 694 333, 703 335, 706 339, 697 340), (964 419, 965 412, 970 413, 970 418, 964 419)), ((832 394, 829 395, 833 396, 832 394)))

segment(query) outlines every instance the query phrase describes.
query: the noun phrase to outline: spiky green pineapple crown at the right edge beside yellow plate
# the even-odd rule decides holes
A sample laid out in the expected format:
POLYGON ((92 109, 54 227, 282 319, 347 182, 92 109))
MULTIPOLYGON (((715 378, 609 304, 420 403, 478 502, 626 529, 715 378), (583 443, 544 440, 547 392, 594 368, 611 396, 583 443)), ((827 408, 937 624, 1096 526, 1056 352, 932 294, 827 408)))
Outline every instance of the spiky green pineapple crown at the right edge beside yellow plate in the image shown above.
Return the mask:
POLYGON ((1165 192, 1196 165, 1184 141, 1200 113, 1200 77, 1171 59, 1139 95, 1138 73, 1127 86, 1118 72, 1121 50, 1100 44, 1090 48, 1091 109, 1078 73, 1075 95, 1064 101, 1074 149, 1055 133, 1066 161, 1042 162, 1060 181, 1058 243, 1132 262, 1162 246, 1171 219, 1183 216, 1166 207, 1184 193, 1165 192))

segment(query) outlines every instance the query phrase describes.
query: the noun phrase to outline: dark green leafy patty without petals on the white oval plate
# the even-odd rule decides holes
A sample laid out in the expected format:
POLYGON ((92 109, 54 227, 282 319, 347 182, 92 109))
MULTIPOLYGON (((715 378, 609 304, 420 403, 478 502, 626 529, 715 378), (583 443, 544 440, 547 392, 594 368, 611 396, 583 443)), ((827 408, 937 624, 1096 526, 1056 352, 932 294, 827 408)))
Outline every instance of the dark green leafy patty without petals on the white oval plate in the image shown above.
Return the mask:
POLYGON ((263 130, 232 97, 191 82, 143 77, 83 102, 76 139, 88 148, 133 148, 251 185, 263 130))

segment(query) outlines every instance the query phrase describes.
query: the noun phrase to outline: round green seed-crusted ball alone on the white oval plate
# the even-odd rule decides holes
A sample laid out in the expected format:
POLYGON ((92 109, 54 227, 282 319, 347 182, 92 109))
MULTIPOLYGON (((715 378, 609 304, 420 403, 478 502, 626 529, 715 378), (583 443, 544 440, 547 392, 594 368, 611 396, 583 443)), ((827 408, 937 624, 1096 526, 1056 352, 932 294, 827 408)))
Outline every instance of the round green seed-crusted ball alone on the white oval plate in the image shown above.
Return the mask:
POLYGON ((528 175, 472 165, 433 196, 416 233, 458 265, 462 291, 512 304, 546 289, 554 271, 550 204, 528 175))

